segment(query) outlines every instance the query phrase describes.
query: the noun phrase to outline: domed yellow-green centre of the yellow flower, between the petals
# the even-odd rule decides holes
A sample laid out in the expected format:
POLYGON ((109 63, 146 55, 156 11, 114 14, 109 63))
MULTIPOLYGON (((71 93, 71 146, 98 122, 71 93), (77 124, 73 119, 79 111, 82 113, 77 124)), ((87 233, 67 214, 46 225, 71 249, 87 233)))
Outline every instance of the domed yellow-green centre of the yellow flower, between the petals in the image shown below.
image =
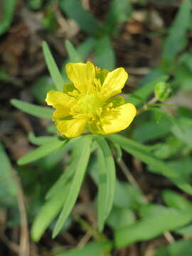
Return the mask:
POLYGON ((102 99, 93 94, 85 95, 80 98, 78 105, 82 114, 96 114, 97 109, 102 107, 102 99))

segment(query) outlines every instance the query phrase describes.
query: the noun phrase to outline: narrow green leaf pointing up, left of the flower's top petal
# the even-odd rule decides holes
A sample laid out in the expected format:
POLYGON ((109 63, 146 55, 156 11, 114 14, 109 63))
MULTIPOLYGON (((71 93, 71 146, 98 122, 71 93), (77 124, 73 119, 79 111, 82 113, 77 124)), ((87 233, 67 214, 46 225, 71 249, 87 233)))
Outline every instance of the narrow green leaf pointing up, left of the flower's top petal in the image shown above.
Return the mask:
POLYGON ((46 64, 48 66, 50 76, 53 79, 56 89, 58 91, 62 92, 64 81, 63 81, 62 76, 60 75, 60 71, 58 70, 55 60, 54 60, 52 54, 50 53, 48 44, 46 42, 43 42, 42 46, 43 46, 43 53, 46 58, 46 64))

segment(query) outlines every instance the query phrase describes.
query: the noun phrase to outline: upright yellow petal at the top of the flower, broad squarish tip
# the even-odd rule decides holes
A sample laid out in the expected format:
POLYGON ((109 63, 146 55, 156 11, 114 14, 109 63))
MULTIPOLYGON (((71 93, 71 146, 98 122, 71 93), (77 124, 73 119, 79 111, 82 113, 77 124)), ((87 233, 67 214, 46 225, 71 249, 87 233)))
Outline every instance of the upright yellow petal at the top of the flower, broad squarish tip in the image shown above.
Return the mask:
POLYGON ((66 73, 82 94, 95 91, 95 66, 90 61, 87 63, 68 63, 66 73))

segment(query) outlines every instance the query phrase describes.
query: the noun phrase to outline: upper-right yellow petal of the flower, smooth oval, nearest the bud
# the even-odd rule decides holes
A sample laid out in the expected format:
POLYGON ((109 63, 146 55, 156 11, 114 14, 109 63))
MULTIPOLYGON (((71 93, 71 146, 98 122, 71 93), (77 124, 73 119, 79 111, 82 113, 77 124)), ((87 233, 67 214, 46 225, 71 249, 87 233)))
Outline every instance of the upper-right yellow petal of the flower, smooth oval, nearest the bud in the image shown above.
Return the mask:
POLYGON ((127 78, 128 74, 124 68, 117 68, 108 73, 102 85, 101 93, 103 97, 107 100, 108 98, 121 93, 127 78))

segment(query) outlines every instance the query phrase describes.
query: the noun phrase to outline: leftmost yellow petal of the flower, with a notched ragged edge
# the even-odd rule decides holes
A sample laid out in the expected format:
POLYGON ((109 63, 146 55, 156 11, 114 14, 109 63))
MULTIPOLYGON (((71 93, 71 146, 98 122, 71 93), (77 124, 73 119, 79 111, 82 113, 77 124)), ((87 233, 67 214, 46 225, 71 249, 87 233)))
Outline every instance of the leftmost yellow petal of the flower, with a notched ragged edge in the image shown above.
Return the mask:
POLYGON ((50 90, 46 97, 47 104, 57 109, 53 113, 53 119, 67 117, 70 114, 70 107, 73 106, 75 101, 73 97, 55 90, 50 90))

